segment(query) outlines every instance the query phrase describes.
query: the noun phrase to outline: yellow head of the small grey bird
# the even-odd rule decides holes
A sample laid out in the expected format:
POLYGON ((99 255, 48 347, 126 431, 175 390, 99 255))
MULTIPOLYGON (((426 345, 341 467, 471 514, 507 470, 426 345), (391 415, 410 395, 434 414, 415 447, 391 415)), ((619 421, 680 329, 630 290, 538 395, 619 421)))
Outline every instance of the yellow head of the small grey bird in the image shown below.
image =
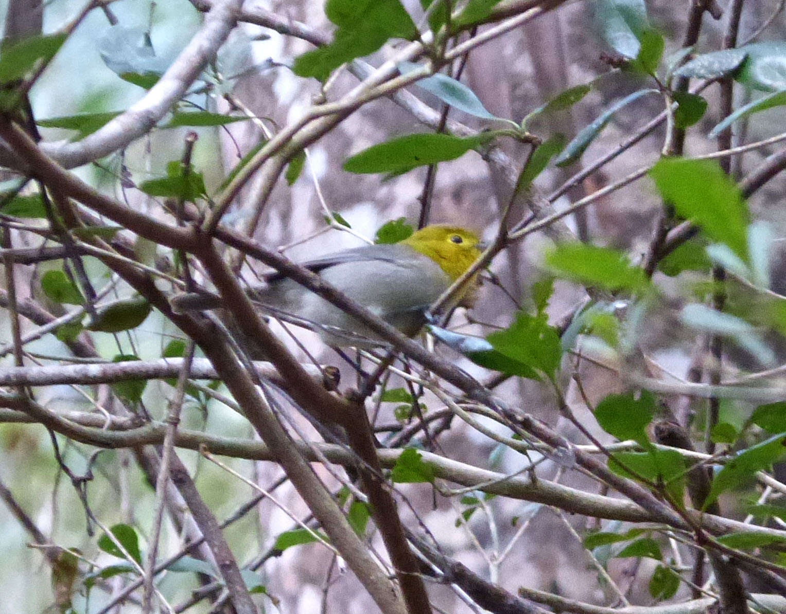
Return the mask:
POLYGON ((402 243, 435 261, 452 281, 461 277, 483 253, 479 236, 459 226, 426 226, 402 243))

